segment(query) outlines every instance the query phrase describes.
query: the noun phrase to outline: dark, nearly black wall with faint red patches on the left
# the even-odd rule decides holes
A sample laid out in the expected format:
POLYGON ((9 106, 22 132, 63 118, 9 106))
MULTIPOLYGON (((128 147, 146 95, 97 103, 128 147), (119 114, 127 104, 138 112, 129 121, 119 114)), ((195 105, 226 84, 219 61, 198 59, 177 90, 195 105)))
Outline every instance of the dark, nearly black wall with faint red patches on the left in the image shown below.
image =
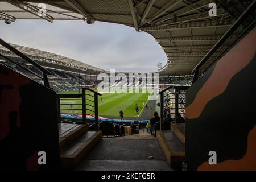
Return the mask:
POLYGON ((0 64, 0 170, 59 168, 56 109, 56 92, 0 64))

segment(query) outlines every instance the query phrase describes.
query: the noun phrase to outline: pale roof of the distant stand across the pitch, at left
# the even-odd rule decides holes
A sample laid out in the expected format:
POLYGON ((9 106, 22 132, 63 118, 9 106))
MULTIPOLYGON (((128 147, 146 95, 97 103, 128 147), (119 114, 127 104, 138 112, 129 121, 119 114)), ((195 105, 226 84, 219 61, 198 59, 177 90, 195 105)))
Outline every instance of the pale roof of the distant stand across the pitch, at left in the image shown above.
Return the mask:
MULTIPOLYGON (((90 69, 92 71, 97 71, 97 72, 106 72, 104 69, 93 67, 89 64, 85 64, 80 61, 70 59, 68 57, 56 55, 55 53, 40 51, 38 49, 28 48, 28 47, 24 47, 24 46, 15 45, 15 44, 11 44, 11 46, 13 46, 14 48, 18 49, 20 52, 22 52, 28 56, 38 57, 38 58, 40 57, 40 59, 49 60, 52 63, 64 64, 64 65, 67 65, 70 67, 76 67, 76 68, 90 69)), ((3 47, 0 44, 0 51, 1 50, 9 51, 9 49, 3 47)))

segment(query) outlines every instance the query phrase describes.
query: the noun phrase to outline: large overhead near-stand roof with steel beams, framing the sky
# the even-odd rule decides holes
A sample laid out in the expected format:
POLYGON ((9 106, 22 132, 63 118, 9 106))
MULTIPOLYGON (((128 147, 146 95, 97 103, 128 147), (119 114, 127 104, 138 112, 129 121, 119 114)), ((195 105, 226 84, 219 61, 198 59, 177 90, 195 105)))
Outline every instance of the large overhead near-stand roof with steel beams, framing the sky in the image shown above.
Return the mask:
MULTIPOLYGON (((221 38, 252 0, 218 0, 217 16, 208 14, 212 0, 86 0, 86 1, 0 1, 0 19, 85 20, 125 24, 148 32, 167 55, 160 71, 168 75, 191 75, 192 69, 221 38), (46 4, 46 16, 39 16, 38 3, 46 4)), ((255 18, 255 14, 250 18, 255 18)), ((248 18, 248 21, 249 19, 248 18)), ((88 25, 92 26, 92 25, 88 25)), ((243 23, 218 51, 234 40, 243 23)), ((209 61, 214 59, 213 55, 209 61)))

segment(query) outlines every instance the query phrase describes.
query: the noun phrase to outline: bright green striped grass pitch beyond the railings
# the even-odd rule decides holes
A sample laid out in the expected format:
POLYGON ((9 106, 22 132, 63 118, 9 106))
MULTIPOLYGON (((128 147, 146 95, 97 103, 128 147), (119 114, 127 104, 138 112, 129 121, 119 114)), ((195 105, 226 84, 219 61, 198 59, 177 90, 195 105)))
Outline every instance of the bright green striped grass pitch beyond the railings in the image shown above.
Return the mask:
MULTIPOLYGON (((97 90, 96 90, 97 91, 97 90)), ((62 93, 62 92, 61 92, 62 93)), ((73 92, 63 92, 63 93, 79 93, 78 91, 73 92)), ((81 93, 81 91, 80 91, 81 93)), ((91 94, 88 90, 86 90, 86 94, 91 94)), ((99 115, 103 116, 119 116, 119 111, 122 109, 124 117, 139 117, 143 109, 143 103, 146 103, 148 100, 149 93, 102 93, 102 101, 101 97, 98 97, 98 108, 99 115), (139 112, 138 114, 135 112, 135 105, 138 105, 139 112)), ((94 101, 93 97, 86 96, 86 99, 94 101)), ((93 105, 94 102, 86 101, 86 104, 93 105)), ((82 113, 82 101, 74 99, 62 99, 61 100, 61 113, 67 114, 81 114, 82 113), (78 104, 78 105, 77 105, 78 104), (72 105, 72 106, 71 106, 72 105), (73 107, 71 109, 71 107, 73 107)), ((86 106, 86 109, 90 109, 94 111, 94 108, 91 106, 86 106)), ((87 110, 87 114, 94 113, 90 110, 87 110)))

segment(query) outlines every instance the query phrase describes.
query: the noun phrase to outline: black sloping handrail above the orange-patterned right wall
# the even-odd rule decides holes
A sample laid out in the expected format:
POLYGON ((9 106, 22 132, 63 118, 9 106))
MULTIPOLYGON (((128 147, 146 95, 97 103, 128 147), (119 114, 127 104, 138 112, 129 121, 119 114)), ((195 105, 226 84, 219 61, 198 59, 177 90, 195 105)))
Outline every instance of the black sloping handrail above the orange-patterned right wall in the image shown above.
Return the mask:
POLYGON ((199 76, 201 74, 203 74, 205 71, 207 71, 207 69, 213 64, 215 63, 226 51, 228 51, 228 49, 230 47, 233 46, 234 43, 236 43, 236 41, 238 39, 240 39, 248 30, 250 30, 250 28, 252 28, 255 24, 255 21, 253 23, 250 24, 249 27, 246 28, 245 31, 243 31, 237 38, 236 40, 234 40, 232 43, 229 44, 229 46, 227 48, 224 49, 224 51, 222 51, 220 53, 220 55, 217 56, 216 59, 214 59, 212 61, 212 63, 210 63, 201 73, 199 73, 199 69, 201 68, 202 65, 205 64, 205 62, 213 55, 214 52, 217 51, 218 48, 220 48, 220 46, 226 41, 226 39, 229 38, 230 35, 233 34, 234 31, 237 30, 238 27, 240 27, 240 25, 242 24, 243 20, 245 20, 247 18, 247 16, 250 15, 250 13, 252 11, 255 10, 256 7, 256 0, 254 0, 253 2, 251 2, 251 4, 247 7, 247 9, 243 12, 243 14, 236 20, 236 22, 234 22, 234 24, 229 28, 228 31, 226 31, 226 33, 222 36, 222 38, 220 40, 218 40, 218 42, 212 47, 212 49, 210 49, 210 51, 207 53, 207 55, 205 55, 203 57, 203 59, 196 65, 196 67, 193 69, 193 79, 192 79, 192 84, 199 78, 199 76))

